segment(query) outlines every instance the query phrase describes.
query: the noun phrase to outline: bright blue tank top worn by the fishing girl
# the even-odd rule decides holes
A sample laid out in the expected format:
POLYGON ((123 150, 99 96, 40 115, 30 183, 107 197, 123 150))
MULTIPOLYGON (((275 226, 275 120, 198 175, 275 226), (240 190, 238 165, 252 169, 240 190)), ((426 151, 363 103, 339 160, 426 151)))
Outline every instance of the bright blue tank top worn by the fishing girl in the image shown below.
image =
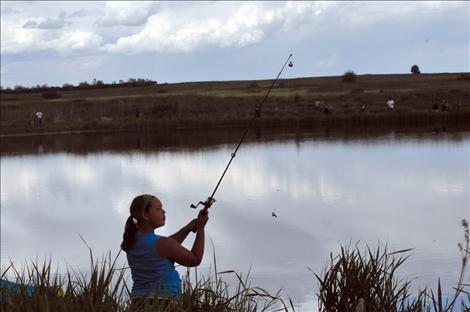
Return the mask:
POLYGON ((157 255, 155 243, 160 238, 153 233, 137 234, 134 245, 127 251, 131 267, 131 296, 181 295, 181 279, 174 262, 157 255))

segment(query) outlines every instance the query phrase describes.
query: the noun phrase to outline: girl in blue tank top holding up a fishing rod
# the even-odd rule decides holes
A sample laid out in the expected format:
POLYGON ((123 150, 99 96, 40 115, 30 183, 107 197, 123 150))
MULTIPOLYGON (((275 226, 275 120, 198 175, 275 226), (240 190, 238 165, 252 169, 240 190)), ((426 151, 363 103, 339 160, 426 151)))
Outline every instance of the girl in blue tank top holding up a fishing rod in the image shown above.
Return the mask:
POLYGON ((204 227, 209 219, 207 209, 214 200, 208 199, 197 219, 175 234, 164 237, 154 230, 165 225, 165 210, 153 195, 134 198, 127 218, 121 248, 127 253, 133 280, 131 297, 169 298, 181 295, 181 279, 174 263, 198 266, 204 255, 204 227), (191 250, 181 243, 189 232, 196 233, 191 250))

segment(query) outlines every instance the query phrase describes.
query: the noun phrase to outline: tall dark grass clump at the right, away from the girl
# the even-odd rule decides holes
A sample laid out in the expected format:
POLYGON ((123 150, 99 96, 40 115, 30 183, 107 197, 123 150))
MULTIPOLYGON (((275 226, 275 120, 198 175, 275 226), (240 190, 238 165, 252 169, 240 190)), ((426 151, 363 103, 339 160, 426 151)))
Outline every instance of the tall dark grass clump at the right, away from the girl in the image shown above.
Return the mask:
POLYGON ((397 312, 451 312, 470 311, 469 284, 464 283, 464 272, 470 257, 469 227, 463 220, 464 244, 460 277, 453 296, 443 295, 440 280, 437 289, 425 288, 412 293, 411 282, 398 276, 398 269, 409 258, 411 249, 389 253, 387 246, 364 252, 358 245, 343 246, 339 255, 330 255, 321 275, 315 274, 319 284, 320 311, 397 311, 397 312))

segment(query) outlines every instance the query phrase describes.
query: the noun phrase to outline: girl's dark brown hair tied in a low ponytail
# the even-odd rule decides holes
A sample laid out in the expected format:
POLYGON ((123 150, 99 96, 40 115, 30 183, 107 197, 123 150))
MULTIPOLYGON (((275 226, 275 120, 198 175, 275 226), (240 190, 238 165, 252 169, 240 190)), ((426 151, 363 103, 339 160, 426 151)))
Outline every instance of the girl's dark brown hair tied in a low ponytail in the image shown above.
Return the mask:
POLYGON ((121 249, 128 251, 135 242, 137 231, 139 230, 138 224, 142 220, 142 213, 148 211, 151 201, 154 196, 152 195, 139 195, 131 203, 130 213, 124 227, 124 234, 122 235, 121 249))

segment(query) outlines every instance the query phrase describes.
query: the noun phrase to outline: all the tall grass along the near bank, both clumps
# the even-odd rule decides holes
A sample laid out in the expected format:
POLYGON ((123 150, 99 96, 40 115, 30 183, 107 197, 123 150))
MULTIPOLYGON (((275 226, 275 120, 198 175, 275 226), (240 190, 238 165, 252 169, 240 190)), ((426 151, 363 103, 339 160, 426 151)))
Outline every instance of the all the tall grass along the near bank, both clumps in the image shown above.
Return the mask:
MULTIPOLYGON (((339 255, 330 261, 321 275, 315 274, 319 284, 317 293, 320 311, 397 311, 397 312, 451 312, 470 309, 469 284, 464 283, 464 272, 470 256, 469 227, 464 227, 464 243, 459 244, 462 264, 454 295, 443 295, 440 281, 437 289, 424 289, 411 293, 411 282, 400 279, 398 269, 405 263, 410 251, 387 252, 387 248, 343 246, 339 255)), ((36 286, 34 292, 27 288, 3 286, 0 289, 1 311, 295 311, 292 300, 281 298, 280 292, 270 294, 261 287, 252 287, 249 274, 243 278, 235 271, 214 271, 208 276, 191 280, 190 272, 183 277, 183 294, 180 299, 165 303, 158 300, 136 306, 129 300, 129 286, 124 269, 116 265, 116 257, 108 253, 101 261, 94 259, 90 249, 90 272, 77 273, 68 269, 59 277, 52 273, 50 261, 38 265, 31 262, 22 272, 13 263, 2 270, 2 279, 13 273, 17 283, 36 286), (229 285, 223 277, 234 274, 238 281, 229 285)))

